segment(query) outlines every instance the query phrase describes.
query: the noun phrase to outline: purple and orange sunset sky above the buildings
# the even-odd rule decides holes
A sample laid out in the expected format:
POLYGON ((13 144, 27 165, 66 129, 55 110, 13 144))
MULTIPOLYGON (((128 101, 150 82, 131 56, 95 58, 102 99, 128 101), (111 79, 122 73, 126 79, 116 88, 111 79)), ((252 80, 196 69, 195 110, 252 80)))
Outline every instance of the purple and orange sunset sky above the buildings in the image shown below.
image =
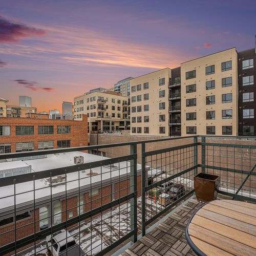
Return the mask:
POLYGON ((38 111, 129 76, 254 47, 256 1, 0 0, 0 97, 38 111))

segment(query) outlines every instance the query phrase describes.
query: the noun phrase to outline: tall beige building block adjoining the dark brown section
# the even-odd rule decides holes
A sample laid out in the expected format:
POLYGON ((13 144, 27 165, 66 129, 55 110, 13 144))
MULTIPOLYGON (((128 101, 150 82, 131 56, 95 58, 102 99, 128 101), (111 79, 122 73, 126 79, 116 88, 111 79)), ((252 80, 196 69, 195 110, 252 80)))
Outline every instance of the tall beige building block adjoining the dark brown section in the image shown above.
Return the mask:
POLYGON ((237 135, 237 51, 181 63, 181 135, 237 135))

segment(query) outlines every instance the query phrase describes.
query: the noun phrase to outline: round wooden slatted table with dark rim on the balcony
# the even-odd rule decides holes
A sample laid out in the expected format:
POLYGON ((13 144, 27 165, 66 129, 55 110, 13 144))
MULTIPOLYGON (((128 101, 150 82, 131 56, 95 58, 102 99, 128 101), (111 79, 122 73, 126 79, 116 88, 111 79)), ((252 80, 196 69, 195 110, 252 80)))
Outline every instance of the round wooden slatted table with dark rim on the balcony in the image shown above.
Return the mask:
POLYGON ((185 236, 198 255, 256 255, 256 204, 211 201, 191 216, 185 236))

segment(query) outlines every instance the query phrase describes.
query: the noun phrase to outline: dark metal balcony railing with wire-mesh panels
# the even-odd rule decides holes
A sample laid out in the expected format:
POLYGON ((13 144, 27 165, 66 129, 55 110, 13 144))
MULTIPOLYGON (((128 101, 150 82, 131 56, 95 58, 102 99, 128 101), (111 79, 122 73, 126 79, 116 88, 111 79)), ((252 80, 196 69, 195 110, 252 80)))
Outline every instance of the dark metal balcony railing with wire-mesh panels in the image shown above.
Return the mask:
POLYGON ((45 238, 62 229, 69 230, 87 255, 102 255, 129 238, 135 242, 138 232, 144 236, 148 224, 194 193, 193 179, 199 172, 220 176, 219 193, 256 202, 255 137, 246 141, 225 136, 164 138, 1 154, 0 160, 98 153, 122 146, 130 148, 129 154, 92 162, 87 155, 83 164, 1 178, 1 255, 44 253, 49 246, 45 238), (166 147, 172 140, 181 145, 166 147), (148 151, 150 143, 165 148, 148 151), (57 205, 61 206, 57 209, 57 205))

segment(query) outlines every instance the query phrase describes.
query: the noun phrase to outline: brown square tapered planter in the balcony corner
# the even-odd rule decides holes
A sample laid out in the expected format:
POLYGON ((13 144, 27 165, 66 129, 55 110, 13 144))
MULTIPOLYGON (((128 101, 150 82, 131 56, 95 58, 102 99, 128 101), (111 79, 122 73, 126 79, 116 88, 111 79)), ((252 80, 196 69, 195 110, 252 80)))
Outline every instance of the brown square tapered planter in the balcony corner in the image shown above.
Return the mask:
POLYGON ((200 173, 194 177, 195 193, 198 201, 209 202, 217 199, 220 176, 200 173))

